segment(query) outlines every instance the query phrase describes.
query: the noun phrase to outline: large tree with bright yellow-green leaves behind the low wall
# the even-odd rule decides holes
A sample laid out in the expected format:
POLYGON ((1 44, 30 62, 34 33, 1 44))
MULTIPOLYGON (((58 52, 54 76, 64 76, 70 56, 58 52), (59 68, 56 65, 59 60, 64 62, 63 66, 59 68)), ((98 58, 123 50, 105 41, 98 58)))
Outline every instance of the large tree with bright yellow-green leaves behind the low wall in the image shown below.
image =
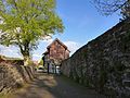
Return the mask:
POLYGON ((25 64, 38 40, 63 33, 55 0, 0 0, 0 44, 18 46, 25 64))

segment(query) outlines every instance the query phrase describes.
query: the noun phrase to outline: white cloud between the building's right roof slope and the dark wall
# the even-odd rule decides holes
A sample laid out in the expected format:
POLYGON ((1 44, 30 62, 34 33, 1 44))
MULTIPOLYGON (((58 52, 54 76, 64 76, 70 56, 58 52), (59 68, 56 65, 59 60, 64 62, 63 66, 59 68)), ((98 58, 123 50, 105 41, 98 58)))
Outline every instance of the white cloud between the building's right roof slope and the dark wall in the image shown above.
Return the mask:
POLYGON ((78 50, 81 47, 81 44, 76 41, 64 41, 64 44, 68 47, 70 54, 73 54, 76 50, 78 50))

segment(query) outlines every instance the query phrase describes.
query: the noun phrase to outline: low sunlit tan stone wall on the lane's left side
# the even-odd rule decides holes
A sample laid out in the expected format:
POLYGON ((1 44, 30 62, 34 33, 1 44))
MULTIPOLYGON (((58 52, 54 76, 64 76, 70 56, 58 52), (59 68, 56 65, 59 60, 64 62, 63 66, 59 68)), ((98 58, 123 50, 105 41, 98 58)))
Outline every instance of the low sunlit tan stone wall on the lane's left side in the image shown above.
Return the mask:
POLYGON ((6 94, 23 86, 25 82, 30 82, 34 77, 32 66, 2 62, 0 63, 0 93, 6 94))

